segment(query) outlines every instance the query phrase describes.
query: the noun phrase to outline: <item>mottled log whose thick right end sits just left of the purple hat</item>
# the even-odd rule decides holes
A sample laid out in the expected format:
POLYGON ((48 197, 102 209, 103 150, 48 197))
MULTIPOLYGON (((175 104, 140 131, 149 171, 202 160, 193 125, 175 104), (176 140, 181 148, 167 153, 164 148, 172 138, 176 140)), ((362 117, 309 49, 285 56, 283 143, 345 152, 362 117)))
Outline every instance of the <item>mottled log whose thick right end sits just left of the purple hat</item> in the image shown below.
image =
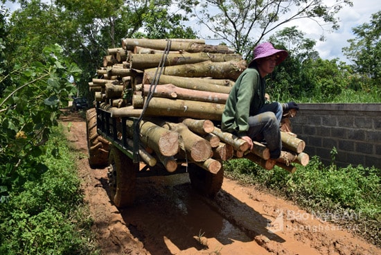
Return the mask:
MULTIPOLYGON (((246 68, 247 62, 245 60, 228 62, 211 62, 209 60, 196 64, 165 67, 162 74, 167 76, 229 78, 236 80, 246 68)), ((147 70, 149 72, 155 71, 154 69, 147 70)))

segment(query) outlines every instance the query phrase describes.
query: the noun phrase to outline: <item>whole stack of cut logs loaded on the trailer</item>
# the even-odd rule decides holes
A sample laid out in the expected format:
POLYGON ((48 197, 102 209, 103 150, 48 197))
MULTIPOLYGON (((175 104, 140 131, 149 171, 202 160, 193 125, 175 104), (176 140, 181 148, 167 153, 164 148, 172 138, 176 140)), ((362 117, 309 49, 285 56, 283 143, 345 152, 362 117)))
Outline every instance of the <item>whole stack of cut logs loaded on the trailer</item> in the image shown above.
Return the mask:
MULTIPOLYGON (((283 118, 283 151, 276 161, 263 143, 249 150, 246 141, 218 128, 231 87, 246 68, 229 47, 202 39, 123 39, 121 48, 108 50, 89 89, 113 118, 141 118, 139 155, 150 166, 160 161, 173 172, 186 159, 218 173, 222 161, 245 157, 294 173, 292 163, 309 161, 304 141, 290 132, 288 117, 295 112, 283 118)), ((127 122, 130 137, 132 127, 127 122)))

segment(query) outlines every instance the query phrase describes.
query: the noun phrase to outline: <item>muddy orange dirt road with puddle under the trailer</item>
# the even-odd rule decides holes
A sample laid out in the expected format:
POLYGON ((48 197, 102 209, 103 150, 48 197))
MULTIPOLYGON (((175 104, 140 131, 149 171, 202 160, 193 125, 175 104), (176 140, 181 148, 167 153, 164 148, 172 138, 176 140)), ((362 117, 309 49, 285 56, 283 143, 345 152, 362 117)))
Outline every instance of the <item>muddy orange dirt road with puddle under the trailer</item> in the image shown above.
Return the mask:
POLYGON ((68 114, 61 121, 71 123, 67 138, 102 254, 381 254, 292 202, 227 178, 213 200, 195 193, 187 174, 140 178, 134 206, 118 210, 107 196, 107 168, 89 167, 85 120, 68 114))

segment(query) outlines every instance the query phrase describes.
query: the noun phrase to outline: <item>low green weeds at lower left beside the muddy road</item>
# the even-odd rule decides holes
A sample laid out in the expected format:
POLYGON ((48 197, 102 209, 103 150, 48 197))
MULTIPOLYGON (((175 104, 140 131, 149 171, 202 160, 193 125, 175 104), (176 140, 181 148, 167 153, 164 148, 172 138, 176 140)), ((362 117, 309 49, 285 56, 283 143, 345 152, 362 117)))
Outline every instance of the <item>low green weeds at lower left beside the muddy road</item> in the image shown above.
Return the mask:
POLYGON ((55 128, 36 159, 41 175, 13 188, 10 201, 0 204, 0 254, 99 253, 75 156, 62 137, 62 126, 55 128))

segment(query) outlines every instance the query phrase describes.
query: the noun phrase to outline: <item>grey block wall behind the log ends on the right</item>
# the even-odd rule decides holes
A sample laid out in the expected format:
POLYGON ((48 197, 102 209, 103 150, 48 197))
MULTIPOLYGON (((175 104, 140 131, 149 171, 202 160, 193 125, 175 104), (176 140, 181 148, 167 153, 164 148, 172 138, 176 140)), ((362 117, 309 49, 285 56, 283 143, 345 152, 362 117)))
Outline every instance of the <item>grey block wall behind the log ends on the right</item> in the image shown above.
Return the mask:
POLYGON ((305 141, 310 157, 330 164, 330 151, 337 149, 337 166, 352 164, 381 168, 381 103, 299 104, 291 118, 292 132, 305 141))

